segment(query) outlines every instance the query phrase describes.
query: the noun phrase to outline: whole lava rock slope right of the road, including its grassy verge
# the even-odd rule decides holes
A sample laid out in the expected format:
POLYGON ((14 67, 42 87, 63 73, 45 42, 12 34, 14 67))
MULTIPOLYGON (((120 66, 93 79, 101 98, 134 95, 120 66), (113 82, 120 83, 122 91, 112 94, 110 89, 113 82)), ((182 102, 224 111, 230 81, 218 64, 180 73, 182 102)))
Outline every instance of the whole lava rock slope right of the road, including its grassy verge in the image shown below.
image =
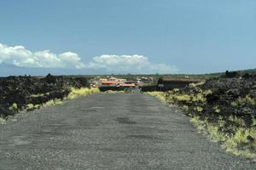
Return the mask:
POLYGON ((230 153, 256 158, 256 76, 226 72, 222 77, 157 94, 179 105, 191 122, 230 153))

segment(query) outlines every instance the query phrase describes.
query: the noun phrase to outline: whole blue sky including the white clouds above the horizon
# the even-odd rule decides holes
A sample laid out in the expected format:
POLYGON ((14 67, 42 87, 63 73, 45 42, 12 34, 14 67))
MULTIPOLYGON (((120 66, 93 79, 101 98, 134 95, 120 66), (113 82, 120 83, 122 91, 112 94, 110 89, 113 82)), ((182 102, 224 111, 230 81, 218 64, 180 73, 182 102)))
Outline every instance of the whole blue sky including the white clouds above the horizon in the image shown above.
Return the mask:
POLYGON ((0 7, 0 62, 12 65, 95 73, 256 67, 253 0, 5 0, 0 7))

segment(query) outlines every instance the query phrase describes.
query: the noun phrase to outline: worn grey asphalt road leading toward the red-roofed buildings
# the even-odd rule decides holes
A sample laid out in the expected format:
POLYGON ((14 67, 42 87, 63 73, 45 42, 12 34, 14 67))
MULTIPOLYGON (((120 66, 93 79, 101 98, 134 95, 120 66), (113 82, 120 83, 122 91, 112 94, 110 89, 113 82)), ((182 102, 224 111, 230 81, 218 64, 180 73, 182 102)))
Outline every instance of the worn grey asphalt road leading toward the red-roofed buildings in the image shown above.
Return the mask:
POLYGON ((0 125, 0 169, 256 169, 145 94, 96 94, 0 125), (16 121, 15 121, 16 120, 16 121))

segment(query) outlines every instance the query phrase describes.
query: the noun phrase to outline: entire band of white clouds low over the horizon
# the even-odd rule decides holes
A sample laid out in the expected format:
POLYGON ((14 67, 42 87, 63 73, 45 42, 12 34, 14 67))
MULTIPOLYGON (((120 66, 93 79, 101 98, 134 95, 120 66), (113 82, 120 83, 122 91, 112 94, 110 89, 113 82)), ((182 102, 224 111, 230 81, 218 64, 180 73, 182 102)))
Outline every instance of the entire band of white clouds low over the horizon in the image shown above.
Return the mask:
POLYGON ((49 50, 32 52, 23 46, 9 47, 0 43, 0 63, 21 67, 95 69, 113 73, 172 73, 173 65, 154 64, 143 55, 102 54, 84 64, 79 54, 65 52, 54 54, 49 50))

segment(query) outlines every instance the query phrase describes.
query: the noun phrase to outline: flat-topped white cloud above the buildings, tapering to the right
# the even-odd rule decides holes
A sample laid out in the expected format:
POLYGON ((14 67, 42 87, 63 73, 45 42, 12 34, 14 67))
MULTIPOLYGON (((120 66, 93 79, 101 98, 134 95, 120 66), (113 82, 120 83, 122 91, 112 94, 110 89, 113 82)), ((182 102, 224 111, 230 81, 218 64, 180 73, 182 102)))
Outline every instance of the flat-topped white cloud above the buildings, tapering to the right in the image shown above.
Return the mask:
POLYGON ((96 56, 86 66, 94 69, 104 69, 113 73, 172 73, 177 71, 174 65, 154 64, 143 55, 110 55, 96 56))

